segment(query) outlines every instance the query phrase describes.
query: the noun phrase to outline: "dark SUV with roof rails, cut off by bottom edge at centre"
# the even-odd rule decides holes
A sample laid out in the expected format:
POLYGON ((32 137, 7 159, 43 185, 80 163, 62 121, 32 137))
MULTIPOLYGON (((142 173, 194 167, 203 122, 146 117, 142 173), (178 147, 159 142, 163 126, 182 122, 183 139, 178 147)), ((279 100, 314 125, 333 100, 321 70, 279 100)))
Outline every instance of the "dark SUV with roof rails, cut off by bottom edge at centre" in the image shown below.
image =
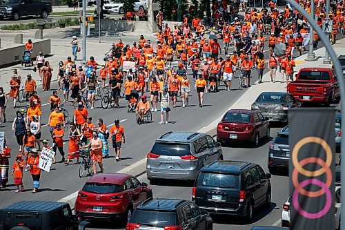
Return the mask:
POLYGON ((194 202, 178 199, 148 199, 135 209, 126 229, 213 229, 212 218, 194 202))

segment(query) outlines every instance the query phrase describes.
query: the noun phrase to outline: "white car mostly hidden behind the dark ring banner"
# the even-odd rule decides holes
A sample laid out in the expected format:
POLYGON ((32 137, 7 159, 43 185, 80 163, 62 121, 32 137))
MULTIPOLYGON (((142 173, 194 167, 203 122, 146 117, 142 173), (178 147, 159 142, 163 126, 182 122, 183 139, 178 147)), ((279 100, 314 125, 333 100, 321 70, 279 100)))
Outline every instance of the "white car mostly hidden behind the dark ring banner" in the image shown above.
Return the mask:
MULTIPOLYGON (((335 229, 340 229, 340 213, 342 207, 342 200, 340 200, 340 191, 342 186, 335 185, 335 229)), ((290 227, 290 198, 283 205, 282 227, 290 227)))

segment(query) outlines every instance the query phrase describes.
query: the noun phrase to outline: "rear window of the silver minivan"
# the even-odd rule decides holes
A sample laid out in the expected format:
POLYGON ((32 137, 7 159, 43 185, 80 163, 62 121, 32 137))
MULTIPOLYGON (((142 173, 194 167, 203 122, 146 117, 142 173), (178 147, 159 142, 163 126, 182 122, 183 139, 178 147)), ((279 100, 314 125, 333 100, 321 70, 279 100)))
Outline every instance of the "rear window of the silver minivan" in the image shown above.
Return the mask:
POLYGON ((151 153, 168 156, 190 155, 190 146, 189 144, 179 144, 175 142, 156 142, 152 147, 151 153))

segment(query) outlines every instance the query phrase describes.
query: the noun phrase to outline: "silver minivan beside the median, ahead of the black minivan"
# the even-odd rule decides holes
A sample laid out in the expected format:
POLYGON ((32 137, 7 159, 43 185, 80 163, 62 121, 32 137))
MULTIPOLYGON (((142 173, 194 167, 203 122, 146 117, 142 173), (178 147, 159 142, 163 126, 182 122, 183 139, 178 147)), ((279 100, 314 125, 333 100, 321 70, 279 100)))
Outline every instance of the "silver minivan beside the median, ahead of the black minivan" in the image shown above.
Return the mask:
POLYGON ((147 155, 148 180, 195 180, 202 167, 223 160, 213 137, 205 133, 168 132, 159 137, 147 155))

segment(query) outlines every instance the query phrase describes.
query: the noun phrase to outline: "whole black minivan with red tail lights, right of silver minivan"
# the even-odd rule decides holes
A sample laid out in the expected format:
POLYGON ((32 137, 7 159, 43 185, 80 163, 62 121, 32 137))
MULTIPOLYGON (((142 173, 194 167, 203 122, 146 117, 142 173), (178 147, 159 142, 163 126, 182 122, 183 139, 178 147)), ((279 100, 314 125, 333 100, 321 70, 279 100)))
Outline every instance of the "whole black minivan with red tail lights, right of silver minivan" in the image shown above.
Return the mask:
POLYGON ((201 169, 192 199, 211 214, 244 216, 247 222, 253 210, 270 207, 270 174, 249 162, 218 161, 201 169))

